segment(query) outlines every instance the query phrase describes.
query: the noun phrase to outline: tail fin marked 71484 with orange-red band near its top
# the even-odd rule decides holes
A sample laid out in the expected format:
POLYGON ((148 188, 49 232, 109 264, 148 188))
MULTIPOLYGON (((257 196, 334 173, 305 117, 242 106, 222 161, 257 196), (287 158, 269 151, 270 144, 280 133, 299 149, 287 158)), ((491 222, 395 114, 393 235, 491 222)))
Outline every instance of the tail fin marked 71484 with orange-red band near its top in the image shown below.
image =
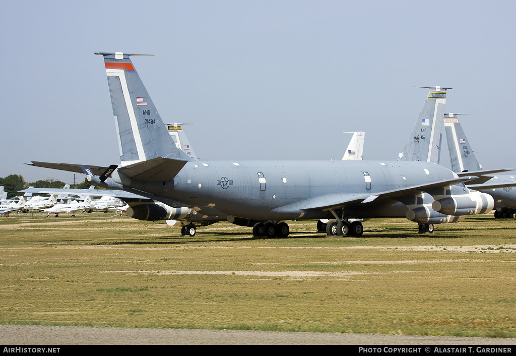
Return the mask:
POLYGON ((153 158, 190 158, 175 144, 143 86, 131 59, 135 54, 100 53, 104 56, 109 94, 119 135, 122 165, 153 158))

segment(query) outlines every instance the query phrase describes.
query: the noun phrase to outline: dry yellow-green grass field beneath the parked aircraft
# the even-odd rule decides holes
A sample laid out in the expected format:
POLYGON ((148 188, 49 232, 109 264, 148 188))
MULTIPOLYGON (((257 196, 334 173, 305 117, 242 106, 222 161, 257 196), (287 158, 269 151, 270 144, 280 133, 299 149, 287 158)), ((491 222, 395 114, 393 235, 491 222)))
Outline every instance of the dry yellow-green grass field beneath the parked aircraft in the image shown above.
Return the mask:
POLYGON ((514 220, 265 239, 109 215, 2 216, 0 323, 516 337, 514 220))

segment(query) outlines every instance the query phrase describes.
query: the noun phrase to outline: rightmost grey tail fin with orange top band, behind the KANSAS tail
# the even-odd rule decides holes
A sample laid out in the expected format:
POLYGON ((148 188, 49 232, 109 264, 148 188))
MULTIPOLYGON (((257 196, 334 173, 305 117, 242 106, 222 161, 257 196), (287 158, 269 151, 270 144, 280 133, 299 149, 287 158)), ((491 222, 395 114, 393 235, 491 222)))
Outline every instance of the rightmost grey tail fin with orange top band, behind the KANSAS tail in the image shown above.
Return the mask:
POLYGON ((460 114, 450 113, 444 116, 444 130, 450 152, 451 170, 455 173, 480 171, 480 164, 467 142, 457 115, 460 114))

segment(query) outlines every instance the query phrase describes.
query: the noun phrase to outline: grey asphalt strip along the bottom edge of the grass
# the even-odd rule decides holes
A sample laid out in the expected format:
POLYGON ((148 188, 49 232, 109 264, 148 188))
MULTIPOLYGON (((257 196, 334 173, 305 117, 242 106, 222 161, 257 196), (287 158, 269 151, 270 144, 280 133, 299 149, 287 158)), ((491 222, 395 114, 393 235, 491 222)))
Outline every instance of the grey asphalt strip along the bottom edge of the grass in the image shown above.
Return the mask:
POLYGON ((489 337, 0 325, 6 345, 516 345, 489 337))

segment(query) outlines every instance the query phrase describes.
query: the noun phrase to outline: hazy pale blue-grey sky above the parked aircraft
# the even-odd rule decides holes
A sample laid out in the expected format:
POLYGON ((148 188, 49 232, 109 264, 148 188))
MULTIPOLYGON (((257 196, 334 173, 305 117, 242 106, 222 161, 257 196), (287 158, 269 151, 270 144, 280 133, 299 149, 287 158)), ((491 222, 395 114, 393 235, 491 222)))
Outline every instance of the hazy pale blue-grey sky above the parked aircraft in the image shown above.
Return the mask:
MULTIPOLYGON (((120 163, 102 56, 133 63, 161 117, 209 160, 396 160, 427 89, 485 169, 516 168, 514 1, 2 2, 0 177, 120 163)), ((444 133, 444 129, 443 129, 444 133)), ((445 139, 443 138, 443 142, 445 139)), ((441 161, 449 166, 448 151, 441 161)), ((84 180, 77 175, 77 180, 84 180)))

